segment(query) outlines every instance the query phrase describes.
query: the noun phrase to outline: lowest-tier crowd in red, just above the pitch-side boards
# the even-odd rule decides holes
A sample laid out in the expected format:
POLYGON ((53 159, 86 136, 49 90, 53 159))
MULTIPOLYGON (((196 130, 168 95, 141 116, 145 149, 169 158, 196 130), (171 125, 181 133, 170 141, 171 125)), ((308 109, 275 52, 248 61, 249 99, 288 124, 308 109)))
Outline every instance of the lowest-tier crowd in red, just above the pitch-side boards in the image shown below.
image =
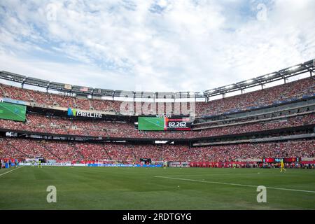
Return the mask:
POLYGON ((35 158, 62 161, 230 162, 262 158, 314 158, 315 139, 258 144, 232 144, 189 148, 172 144, 92 144, 65 141, 0 138, 0 158, 35 158))

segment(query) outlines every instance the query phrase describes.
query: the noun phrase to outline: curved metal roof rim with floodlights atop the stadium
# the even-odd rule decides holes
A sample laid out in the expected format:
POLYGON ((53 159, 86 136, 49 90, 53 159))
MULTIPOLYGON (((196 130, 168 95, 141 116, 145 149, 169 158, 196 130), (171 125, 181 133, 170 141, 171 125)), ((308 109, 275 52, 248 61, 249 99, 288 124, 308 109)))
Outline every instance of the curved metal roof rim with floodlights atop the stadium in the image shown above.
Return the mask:
POLYGON ((31 78, 22 76, 16 73, 8 71, 0 71, 0 78, 10 80, 22 85, 33 85, 37 87, 43 87, 46 90, 55 90, 59 92, 67 92, 70 94, 77 95, 92 95, 97 97, 132 97, 142 99, 187 99, 187 98, 206 98, 214 97, 220 94, 226 94, 228 92, 235 92, 238 90, 244 90, 246 88, 255 87, 258 85, 264 85, 266 83, 272 83, 276 80, 289 78, 291 76, 297 76, 301 73, 314 72, 315 71, 315 59, 302 64, 296 64, 286 69, 281 69, 273 73, 268 73, 263 76, 258 76, 250 80, 244 80, 239 83, 231 85, 225 85, 217 87, 204 92, 134 92, 134 91, 123 91, 123 90, 108 90, 93 87, 84 87, 79 85, 69 85, 66 83, 50 82, 48 80, 42 80, 38 78, 31 78))

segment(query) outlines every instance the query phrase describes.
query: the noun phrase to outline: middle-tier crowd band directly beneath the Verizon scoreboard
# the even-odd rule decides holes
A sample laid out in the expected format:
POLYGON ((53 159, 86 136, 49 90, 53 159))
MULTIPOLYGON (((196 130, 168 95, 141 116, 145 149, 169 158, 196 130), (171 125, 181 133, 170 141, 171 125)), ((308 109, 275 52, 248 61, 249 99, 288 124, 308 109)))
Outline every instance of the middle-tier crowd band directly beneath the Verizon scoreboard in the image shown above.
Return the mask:
POLYGON ((228 134, 241 134, 274 130, 285 127, 298 127, 315 123, 315 113, 296 115, 257 123, 242 123, 232 126, 208 127, 193 131, 141 131, 132 122, 111 122, 105 120, 76 120, 43 116, 28 113, 25 123, 0 119, 0 128, 8 130, 25 130, 50 134, 71 134, 92 137, 117 137, 139 139, 192 139, 197 137, 214 137, 228 134))

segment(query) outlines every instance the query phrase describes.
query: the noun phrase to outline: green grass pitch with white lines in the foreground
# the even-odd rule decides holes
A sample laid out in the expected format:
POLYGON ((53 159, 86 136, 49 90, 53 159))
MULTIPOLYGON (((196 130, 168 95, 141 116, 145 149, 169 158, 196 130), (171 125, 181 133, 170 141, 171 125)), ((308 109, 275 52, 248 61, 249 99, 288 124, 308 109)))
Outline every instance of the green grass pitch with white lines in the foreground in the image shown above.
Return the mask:
POLYGON ((314 169, 13 169, 0 170, 0 209, 315 209, 314 169), (266 203, 256 186, 267 187, 266 203))

